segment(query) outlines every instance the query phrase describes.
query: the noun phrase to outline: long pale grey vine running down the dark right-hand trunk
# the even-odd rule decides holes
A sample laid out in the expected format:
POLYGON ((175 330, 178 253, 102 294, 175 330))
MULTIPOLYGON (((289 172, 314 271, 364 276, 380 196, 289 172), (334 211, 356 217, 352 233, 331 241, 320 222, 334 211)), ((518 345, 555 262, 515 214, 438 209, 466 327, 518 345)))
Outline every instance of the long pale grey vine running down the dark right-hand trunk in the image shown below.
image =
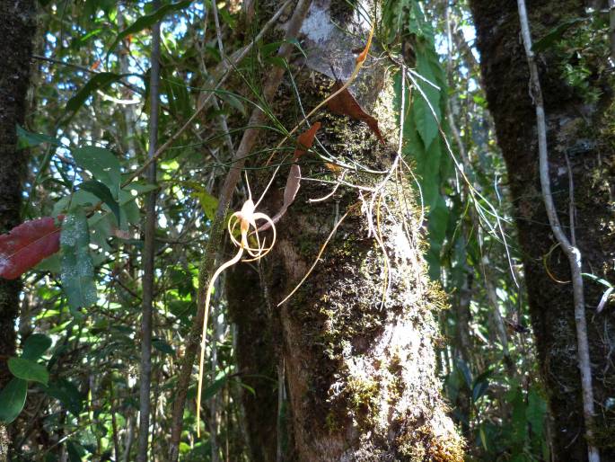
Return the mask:
POLYGON ((576 343, 578 349, 579 370, 581 372, 581 390, 583 395, 583 415, 585 422, 585 440, 587 443, 587 458, 589 462, 600 462, 600 452, 593 446, 593 387, 592 387, 592 367, 589 357, 589 342, 587 340, 587 320, 585 318, 585 302, 583 290, 583 277, 581 275, 581 253, 571 244, 564 234, 559 224, 558 212, 553 203, 551 185, 549 179, 549 153, 547 150, 547 124, 545 121, 544 102, 542 90, 540 89, 540 78, 538 67, 532 50, 532 35, 530 33, 530 23, 525 8, 525 0, 517 0, 519 7, 519 22, 521 23, 521 33, 525 55, 527 56, 528 67, 530 67, 530 83, 532 98, 536 106, 536 128, 538 130, 538 153, 540 164, 540 186, 542 188, 542 199, 547 209, 549 225, 562 250, 568 257, 570 272, 572 276, 573 299, 575 304, 575 324, 576 324, 576 343))

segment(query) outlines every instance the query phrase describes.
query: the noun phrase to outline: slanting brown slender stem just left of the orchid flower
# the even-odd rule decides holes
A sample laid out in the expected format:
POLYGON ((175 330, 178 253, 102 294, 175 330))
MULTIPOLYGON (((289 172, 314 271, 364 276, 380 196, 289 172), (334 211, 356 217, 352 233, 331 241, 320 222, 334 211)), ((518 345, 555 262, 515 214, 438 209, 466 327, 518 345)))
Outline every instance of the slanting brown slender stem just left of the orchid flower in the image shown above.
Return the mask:
MULTIPOLYGON (((288 58, 290 56, 291 51, 294 49, 294 45, 289 43, 288 40, 294 39, 301 30, 303 19, 310 8, 310 4, 312 4, 312 0, 299 0, 296 5, 293 16, 286 25, 285 42, 277 51, 277 56, 279 58, 288 58)), ((268 74, 268 80, 263 86, 263 97, 265 100, 271 101, 282 81, 284 72, 285 70, 282 67, 274 67, 268 74)), ((260 131, 256 127, 261 126, 265 120, 266 115, 258 108, 255 108, 254 111, 252 111, 250 121, 248 122, 248 127, 250 127, 250 129, 246 129, 243 132, 242 142, 233 155, 231 170, 226 174, 224 185, 222 187, 222 191, 220 192, 218 209, 216 210, 215 220, 212 223, 211 233, 205 249, 205 255, 203 256, 203 261, 201 262, 201 267, 198 273, 198 311, 197 315, 193 319, 192 329, 186 344, 186 351, 181 359, 180 378, 178 379, 176 387, 177 392, 175 396, 175 403, 173 404, 171 424, 171 443, 169 449, 169 459, 171 462, 176 461, 179 457, 180 437, 183 427, 183 412, 186 404, 186 395, 192 374, 192 367, 194 366, 194 360, 197 357, 203 318, 205 317, 206 288, 208 287, 209 280, 215 270, 215 254, 217 253, 218 246, 222 240, 224 217, 226 210, 231 203, 235 186, 237 185, 242 173, 243 164, 245 164, 247 156, 250 155, 250 151, 256 145, 260 131)))

